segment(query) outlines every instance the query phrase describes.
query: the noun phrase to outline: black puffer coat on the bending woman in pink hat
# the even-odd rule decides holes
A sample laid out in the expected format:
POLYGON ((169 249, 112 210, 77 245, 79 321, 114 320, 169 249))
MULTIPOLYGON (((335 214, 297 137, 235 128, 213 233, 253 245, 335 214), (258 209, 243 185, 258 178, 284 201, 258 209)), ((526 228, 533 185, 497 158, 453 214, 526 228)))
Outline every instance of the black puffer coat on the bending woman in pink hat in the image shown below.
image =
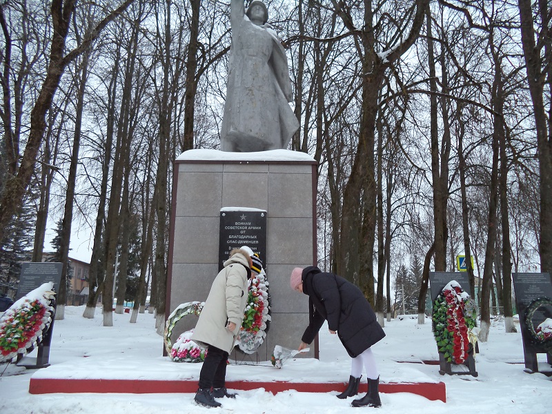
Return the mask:
POLYGON ((313 342, 324 320, 328 321, 331 331, 337 331, 353 358, 385 337, 374 311, 357 286, 333 273, 322 273, 315 266, 303 269, 302 281, 309 306, 309 324, 303 342, 313 342))

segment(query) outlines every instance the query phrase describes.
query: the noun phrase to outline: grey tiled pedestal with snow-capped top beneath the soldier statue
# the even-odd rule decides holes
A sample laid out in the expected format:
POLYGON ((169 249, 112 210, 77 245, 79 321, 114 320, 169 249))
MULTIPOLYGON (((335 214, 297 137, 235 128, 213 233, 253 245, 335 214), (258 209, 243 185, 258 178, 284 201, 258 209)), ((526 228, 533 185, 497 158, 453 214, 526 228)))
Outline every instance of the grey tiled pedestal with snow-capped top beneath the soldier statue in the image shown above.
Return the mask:
MULTIPOLYGON (((266 257, 272 321, 257 354, 237 360, 265 361, 275 345, 297 348, 308 325, 308 298, 290 289, 294 267, 317 263, 316 163, 302 152, 189 150, 175 161, 168 252, 167 314, 179 304, 206 300, 218 273, 221 208, 266 210, 266 257)), ((181 319, 172 333, 195 326, 181 319)), ((315 344, 305 357, 315 357, 315 344)))

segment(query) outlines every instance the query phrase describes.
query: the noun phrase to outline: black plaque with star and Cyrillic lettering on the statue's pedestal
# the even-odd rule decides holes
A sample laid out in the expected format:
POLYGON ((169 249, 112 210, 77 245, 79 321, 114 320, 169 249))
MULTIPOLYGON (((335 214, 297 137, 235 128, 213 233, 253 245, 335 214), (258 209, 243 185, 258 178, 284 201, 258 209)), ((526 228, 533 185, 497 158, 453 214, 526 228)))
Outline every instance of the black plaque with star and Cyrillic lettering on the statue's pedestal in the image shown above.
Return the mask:
POLYGON ((254 208, 220 212, 219 271, 233 248, 249 246, 266 263, 266 211, 254 208))

